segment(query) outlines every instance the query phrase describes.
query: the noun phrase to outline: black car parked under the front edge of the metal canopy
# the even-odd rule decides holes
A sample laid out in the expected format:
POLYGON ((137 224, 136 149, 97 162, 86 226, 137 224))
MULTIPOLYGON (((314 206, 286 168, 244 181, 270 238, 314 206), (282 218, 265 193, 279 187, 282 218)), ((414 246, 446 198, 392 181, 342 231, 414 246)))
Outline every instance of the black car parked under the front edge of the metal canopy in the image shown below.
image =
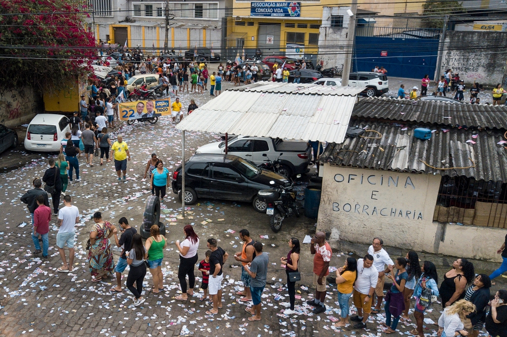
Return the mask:
MULTIPOLYGON (((182 166, 172 175, 172 191, 182 199, 182 166)), ((261 170, 251 161, 234 155, 195 154, 185 162, 185 203, 197 198, 251 202, 257 212, 266 212, 266 202, 257 197, 259 190, 288 184, 274 172, 261 170)))

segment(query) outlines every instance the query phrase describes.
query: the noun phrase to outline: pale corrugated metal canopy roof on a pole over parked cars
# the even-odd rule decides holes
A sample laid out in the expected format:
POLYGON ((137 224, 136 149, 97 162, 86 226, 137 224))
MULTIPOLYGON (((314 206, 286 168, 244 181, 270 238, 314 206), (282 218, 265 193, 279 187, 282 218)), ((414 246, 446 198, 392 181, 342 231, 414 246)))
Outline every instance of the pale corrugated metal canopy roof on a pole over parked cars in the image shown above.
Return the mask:
POLYGON ((176 125, 179 130, 341 143, 361 89, 264 82, 227 90, 176 125))

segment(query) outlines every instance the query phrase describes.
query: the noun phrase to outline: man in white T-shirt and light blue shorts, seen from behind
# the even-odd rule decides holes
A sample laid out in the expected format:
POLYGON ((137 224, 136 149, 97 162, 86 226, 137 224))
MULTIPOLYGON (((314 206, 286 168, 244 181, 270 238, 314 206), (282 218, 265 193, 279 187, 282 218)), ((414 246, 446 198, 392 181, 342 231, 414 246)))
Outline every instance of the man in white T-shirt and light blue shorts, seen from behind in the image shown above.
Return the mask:
POLYGON ((70 202, 70 195, 63 197, 64 207, 58 211, 58 233, 56 234, 56 247, 60 253, 63 266, 57 271, 68 273, 73 271, 74 267, 74 239, 76 237, 76 223, 79 222, 79 209, 70 202), (65 258, 63 247, 67 244, 69 250, 68 265, 65 258))

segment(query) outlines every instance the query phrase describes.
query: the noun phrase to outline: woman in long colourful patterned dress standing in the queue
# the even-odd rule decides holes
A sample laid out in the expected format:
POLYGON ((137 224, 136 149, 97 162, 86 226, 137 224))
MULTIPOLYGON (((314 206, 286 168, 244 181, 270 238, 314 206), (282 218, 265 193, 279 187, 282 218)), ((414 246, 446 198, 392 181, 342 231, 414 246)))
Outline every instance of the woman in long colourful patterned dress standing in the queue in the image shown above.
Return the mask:
POLYGON ((113 225, 108 221, 103 221, 100 212, 93 214, 93 221, 95 223, 90 232, 88 260, 92 282, 98 282, 103 277, 113 274, 115 265, 109 238, 113 236, 114 232, 113 225))

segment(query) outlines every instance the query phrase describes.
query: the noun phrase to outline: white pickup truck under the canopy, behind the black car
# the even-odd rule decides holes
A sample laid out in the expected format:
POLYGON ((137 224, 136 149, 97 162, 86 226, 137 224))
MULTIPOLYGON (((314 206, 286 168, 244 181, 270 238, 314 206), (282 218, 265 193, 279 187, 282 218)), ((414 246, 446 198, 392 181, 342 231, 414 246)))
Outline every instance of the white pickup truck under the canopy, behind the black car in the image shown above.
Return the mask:
MULTIPOLYGON (((253 161, 260 165, 266 160, 280 157, 288 176, 304 174, 310 171, 312 148, 306 142, 284 142, 282 139, 266 137, 234 136, 228 140, 229 154, 253 161)), ((196 153, 225 154, 225 141, 201 146, 196 153)))

